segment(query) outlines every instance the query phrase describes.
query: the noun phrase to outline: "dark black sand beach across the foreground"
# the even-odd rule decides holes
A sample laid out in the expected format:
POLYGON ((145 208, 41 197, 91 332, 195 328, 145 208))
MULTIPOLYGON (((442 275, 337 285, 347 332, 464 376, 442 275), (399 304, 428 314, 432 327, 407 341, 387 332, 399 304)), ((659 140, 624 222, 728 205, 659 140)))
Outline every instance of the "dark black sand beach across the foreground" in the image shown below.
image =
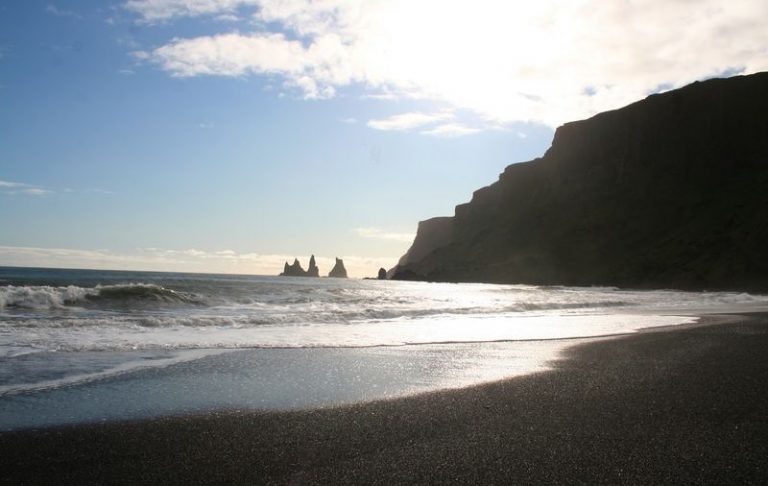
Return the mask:
POLYGON ((766 484, 768 319, 572 348, 553 371, 338 409, 0 435, 5 483, 766 484))

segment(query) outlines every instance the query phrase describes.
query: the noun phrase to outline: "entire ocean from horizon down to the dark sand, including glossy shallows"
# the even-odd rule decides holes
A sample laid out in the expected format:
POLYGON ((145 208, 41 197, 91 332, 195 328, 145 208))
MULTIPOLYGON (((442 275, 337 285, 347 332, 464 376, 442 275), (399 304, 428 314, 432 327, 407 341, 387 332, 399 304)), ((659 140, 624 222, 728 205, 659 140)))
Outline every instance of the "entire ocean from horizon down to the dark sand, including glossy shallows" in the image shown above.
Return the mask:
POLYGON ((546 369, 730 292, 0 268, 0 429, 329 406, 546 369))

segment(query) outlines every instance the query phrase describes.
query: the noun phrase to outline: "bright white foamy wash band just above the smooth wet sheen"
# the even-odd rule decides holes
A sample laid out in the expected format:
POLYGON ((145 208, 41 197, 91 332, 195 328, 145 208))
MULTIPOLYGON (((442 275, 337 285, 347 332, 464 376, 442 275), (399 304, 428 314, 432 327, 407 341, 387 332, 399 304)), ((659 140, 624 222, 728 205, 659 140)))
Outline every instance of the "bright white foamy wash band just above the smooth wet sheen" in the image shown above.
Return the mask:
POLYGON ((14 348, 76 351, 125 351, 203 348, 303 348, 401 346, 449 342, 565 339, 634 332, 695 321, 694 317, 639 315, 527 316, 511 314, 435 315, 353 323, 284 325, 164 326, 90 325, 0 328, 0 340, 13 335, 14 348))

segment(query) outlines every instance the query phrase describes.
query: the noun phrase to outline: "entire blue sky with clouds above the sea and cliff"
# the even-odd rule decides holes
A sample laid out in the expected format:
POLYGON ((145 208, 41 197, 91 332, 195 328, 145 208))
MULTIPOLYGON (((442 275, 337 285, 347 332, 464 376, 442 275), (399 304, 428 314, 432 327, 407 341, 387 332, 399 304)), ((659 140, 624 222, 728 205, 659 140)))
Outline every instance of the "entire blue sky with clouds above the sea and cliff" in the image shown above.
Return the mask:
POLYGON ((0 0, 0 265, 375 276, 562 123, 768 69, 764 0, 0 0))

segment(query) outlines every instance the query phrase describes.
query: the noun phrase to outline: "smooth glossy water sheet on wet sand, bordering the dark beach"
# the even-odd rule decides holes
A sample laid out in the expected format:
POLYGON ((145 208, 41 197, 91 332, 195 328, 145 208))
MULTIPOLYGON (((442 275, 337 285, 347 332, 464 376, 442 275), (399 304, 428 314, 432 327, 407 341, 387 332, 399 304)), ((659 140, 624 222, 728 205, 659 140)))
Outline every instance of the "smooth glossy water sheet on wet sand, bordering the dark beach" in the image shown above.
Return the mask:
POLYGON ((585 341, 190 351, 189 359, 182 353, 168 366, 150 362, 90 382, 0 396, 0 431, 371 402, 546 370, 568 346, 585 341))

